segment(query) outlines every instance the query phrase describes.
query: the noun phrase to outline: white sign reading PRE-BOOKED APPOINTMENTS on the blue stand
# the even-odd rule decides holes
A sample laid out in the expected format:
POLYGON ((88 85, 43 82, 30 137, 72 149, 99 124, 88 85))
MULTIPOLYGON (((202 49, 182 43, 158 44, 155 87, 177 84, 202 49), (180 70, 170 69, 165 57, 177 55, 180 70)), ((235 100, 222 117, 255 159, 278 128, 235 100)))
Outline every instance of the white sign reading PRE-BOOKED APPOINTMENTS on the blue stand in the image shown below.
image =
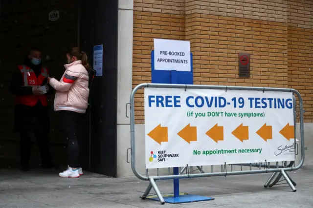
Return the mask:
POLYGON ((155 70, 191 71, 190 42, 154 39, 155 70))

